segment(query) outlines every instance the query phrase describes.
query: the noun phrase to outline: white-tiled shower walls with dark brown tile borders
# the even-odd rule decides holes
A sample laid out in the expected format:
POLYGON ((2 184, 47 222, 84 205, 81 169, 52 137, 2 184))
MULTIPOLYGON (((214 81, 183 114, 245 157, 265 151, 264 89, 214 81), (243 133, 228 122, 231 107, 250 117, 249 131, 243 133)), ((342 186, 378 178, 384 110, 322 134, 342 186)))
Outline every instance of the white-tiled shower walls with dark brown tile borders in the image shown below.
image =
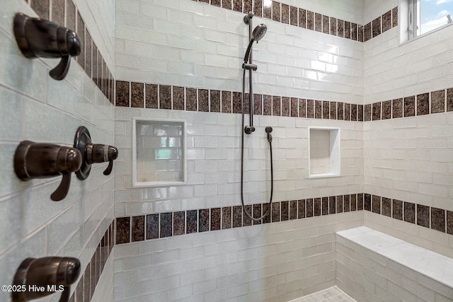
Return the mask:
POLYGON ((1 284, 26 257, 59 255, 81 260, 71 301, 290 301, 348 288, 336 232, 364 225, 453 257, 453 29, 400 44, 398 8, 398 0, 7 0, 1 284), (55 60, 18 50, 19 11, 84 41, 67 79, 48 76, 55 60), (258 223, 240 195, 248 11, 268 27, 253 46, 257 129, 244 156, 248 211, 271 207, 258 223), (134 117, 186 123, 184 183, 132 185, 134 117), (80 125, 119 149, 110 176, 105 164, 83 182, 73 175, 61 202, 49 198, 57 180, 16 178, 20 141, 72 146, 80 125), (339 176, 309 173, 311 127, 338 129, 339 176))

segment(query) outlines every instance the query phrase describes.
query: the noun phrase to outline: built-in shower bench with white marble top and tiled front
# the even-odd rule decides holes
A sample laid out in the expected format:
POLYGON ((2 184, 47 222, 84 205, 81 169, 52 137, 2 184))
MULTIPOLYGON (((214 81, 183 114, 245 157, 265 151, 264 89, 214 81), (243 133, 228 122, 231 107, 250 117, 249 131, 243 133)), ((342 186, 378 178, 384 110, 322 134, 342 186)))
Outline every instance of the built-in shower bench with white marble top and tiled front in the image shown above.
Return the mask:
POLYGON ((356 301, 453 301, 453 259, 361 226, 336 233, 337 285, 356 301))

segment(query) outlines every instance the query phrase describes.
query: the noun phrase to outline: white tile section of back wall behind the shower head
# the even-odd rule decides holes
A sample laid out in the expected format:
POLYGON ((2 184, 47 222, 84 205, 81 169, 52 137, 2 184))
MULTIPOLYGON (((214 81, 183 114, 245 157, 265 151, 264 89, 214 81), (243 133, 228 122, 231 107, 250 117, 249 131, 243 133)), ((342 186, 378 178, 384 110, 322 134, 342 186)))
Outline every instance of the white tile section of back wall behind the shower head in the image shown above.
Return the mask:
MULTIPOLYGON (((188 0, 174 1, 171 7, 166 2, 117 2, 115 42, 125 45, 125 49, 115 52, 117 80, 241 91, 241 58, 248 44, 243 13, 188 0), (137 11, 137 6, 146 9, 137 11), (152 28, 129 21, 136 18, 152 23, 152 28), (185 68, 175 69, 174 64, 184 64, 185 68), (135 75, 133 79, 125 77, 131 73, 135 75)), ((297 6, 315 8, 319 6, 315 2, 302 1, 297 6)), ((357 6, 341 9, 338 3, 328 11, 352 22, 361 18, 362 6, 360 1, 351 2, 357 6)), ((265 39, 253 47, 258 65, 256 93, 301 98, 316 95, 362 103, 362 43, 259 17, 253 22, 268 25, 265 39), (302 77, 294 81, 294 74, 302 77), (301 81, 306 82, 307 89, 300 89, 301 81), (318 91, 318 81, 323 81, 322 91, 318 91)))

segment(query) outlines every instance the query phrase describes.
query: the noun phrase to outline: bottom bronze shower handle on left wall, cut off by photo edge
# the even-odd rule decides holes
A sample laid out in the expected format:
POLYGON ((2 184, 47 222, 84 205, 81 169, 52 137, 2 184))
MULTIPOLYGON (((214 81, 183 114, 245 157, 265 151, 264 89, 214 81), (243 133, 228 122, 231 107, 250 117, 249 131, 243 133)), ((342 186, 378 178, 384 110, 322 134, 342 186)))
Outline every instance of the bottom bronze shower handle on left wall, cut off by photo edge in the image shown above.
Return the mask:
POLYGON ((71 284, 80 274, 80 261, 73 257, 27 258, 13 279, 13 302, 30 301, 59 291, 59 302, 69 301, 71 284))

